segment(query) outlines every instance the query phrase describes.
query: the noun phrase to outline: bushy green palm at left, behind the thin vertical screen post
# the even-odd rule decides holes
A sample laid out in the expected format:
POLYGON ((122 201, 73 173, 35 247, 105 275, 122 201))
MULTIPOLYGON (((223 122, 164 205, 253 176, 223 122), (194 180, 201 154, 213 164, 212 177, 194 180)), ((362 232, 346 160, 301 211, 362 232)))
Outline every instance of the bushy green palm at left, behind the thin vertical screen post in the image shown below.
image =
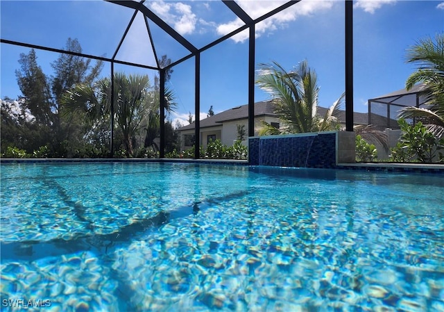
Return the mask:
POLYGON ((123 134, 128 156, 133 155, 133 137, 142 128, 148 108, 155 105, 148 76, 114 74, 114 104, 111 106, 111 81, 99 79, 93 85, 80 84, 65 93, 64 115, 83 113, 92 124, 103 122, 114 108, 114 120, 123 134))

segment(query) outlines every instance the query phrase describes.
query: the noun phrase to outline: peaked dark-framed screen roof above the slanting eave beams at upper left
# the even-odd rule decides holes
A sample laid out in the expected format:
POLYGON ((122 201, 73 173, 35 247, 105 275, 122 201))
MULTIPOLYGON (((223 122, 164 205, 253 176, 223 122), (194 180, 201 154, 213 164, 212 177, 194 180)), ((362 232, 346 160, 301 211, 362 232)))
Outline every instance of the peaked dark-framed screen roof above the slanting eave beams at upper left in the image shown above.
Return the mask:
POLYGON ((1 40, 65 51, 76 38, 86 56, 157 67, 162 55, 186 59, 297 2, 1 1, 1 40))

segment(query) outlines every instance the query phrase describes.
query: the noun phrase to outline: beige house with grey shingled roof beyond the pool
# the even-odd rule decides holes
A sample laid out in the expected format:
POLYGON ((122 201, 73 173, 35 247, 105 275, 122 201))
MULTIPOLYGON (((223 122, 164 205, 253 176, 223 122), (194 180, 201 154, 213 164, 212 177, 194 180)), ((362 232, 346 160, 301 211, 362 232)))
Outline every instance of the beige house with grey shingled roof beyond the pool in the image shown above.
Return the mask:
MULTIPOLYGON (((318 107, 318 114, 323 116, 327 108, 318 107)), ((354 124, 367 124, 366 113, 354 113, 354 124)), ((261 129, 261 120, 272 124, 279 128, 280 120, 278 115, 273 113, 273 104, 271 100, 260 101, 255 103, 255 136, 259 129, 261 129)), ((339 121, 345 127, 345 111, 339 114, 339 121)), ((239 126, 244 126, 245 137, 248 138, 248 105, 236 106, 229 110, 225 110, 219 114, 207 117, 200 120, 200 145, 207 147, 210 140, 221 140, 224 145, 231 146, 234 140, 237 139, 237 129, 239 126)), ((178 129, 180 132, 180 142, 182 142, 181 149, 189 149, 194 145, 194 122, 182 126, 178 129)))

